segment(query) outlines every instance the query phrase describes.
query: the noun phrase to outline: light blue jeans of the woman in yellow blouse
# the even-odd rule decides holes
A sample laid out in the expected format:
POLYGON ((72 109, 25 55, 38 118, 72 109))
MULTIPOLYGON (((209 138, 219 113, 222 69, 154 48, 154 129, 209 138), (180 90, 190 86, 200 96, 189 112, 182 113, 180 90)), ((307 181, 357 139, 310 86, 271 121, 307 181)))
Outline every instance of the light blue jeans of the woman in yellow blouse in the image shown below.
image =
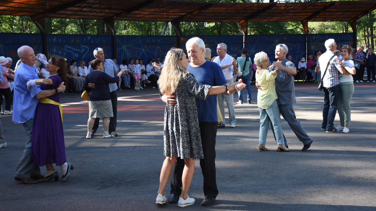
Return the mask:
POLYGON ((279 108, 277 104, 277 100, 268 107, 267 109, 261 109, 260 111, 260 135, 259 135, 259 144, 265 145, 266 137, 268 135, 269 130, 269 121, 273 124, 274 134, 277 139, 277 144, 283 145, 283 132, 282 132, 282 123, 279 114, 279 108))

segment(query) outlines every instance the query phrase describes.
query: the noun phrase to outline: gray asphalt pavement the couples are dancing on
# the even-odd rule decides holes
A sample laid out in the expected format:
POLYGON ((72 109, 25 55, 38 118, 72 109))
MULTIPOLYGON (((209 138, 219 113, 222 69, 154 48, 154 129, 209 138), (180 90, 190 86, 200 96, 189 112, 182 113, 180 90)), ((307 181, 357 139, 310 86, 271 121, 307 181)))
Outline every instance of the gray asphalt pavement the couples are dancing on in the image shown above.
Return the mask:
MULTIPOLYGON (((314 83, 296 83, 294 110, 313 138, 303 144, 287 122, 282 128, 290 152, 276 152, 271 130, 260 152, 257 91, 252 104, 236 104, 237 124, 218 129, 216 169, 219 194, 212 206, 201 206, 203 177, 195 164, 188 195, 196 203, 156 205, 159 173, 164 160, 165 104, 158 89, 118 91, 118 137, 103 139, 103 127, 85 139, 88 103, 79 93, 62 95, 67 160, 74 166, 63 183, 24 185, 14 180, 27 135, 11 116, 0 116, 8 143, 0 149, 0 210, 210 210, 210 211, 360 211, 376 210, 376 83, 355 83, 350 133, 321 131, 323 92, 314 83)), ((246 100, 246 89, 243 90, 246 100)), ((237 94, 234 95, 237 102, 237 94)), ((228 112, 226 110, 226 121, 228 112)), ((48 115, 48 114, 46 114, 48 115)), ((339 124, 336 116, 335 126, 339 124)), ((56 168, 60 177, 60 167, 56 168)), ((42 174, 45 167, 41 167, 42 174)), ((170 185, 165 189, 169 196, 170 185)))

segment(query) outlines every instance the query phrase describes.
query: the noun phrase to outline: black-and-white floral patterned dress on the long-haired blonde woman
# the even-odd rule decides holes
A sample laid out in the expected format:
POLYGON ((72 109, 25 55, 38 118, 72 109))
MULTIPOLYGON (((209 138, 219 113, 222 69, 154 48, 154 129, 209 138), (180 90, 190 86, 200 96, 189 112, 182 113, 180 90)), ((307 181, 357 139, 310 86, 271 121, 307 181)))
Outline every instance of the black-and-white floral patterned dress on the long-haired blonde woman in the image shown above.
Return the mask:
POLYGON ((211 86, 187 74, 174 93, 176 104, 166 105, 164 115, 164 155, 181 159, 203 159, 196 98, 206 100, 211 86))

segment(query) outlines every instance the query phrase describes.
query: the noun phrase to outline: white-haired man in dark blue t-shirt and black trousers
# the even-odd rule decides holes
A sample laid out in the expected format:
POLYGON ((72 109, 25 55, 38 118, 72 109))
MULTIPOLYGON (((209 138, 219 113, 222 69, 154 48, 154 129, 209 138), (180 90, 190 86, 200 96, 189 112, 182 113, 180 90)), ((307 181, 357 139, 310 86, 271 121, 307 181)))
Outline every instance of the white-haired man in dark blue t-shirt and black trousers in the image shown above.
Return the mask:
MULTIPOLYGON (((202 84, 211 86, 221 86, 226 84, 223 72, 220 66, 214 62, 205 60, 205 43, 200 38, 191 38, 186 42, 187 55, 191 62, 187 69, 202 84)), ((227 92, 227 95, 235 91, 227 92)), ((174 96, 162 96, 162 101, 174 105, 176 100, 174 96)), ((196 98, 197 113, 199 116, 199 127, 201 132, 202 149, 204 159, 200 159, 202 175, 204 177, 205 199, 202 206, 212 205, 215 197, 218 195, 217 182, 215 180, 215 137, 217 136, 217 96, 209 95, 206 101, 196 98)), ((182 187, 182 174, 184 169, 184 160, 177 159, 173 169, 173 178, 171 178, 171 195, 168 197, 169 203, 177 203, 182 187)))

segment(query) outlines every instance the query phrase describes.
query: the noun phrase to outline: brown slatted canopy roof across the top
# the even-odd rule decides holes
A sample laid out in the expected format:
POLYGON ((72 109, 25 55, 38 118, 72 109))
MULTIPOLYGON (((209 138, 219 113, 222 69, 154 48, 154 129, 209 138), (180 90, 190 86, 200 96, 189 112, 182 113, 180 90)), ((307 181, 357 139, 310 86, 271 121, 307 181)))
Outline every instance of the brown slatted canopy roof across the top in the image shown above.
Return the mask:
POLYGON ((0 0, 2 15, 121 21, 355 21, 376 0, 310 3, 208 3, 177 0, 0 0))

